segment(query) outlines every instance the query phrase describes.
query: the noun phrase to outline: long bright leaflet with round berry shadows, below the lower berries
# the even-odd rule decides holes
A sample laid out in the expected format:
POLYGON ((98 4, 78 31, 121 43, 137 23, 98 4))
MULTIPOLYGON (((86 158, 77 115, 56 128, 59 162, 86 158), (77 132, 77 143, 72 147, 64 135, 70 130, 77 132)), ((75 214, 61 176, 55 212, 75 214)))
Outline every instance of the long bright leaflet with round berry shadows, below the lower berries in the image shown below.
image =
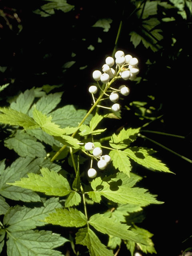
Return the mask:
MULTIPOLYGON (((127 177, 128 178, 128 177, 127 177)), ((95 194, 100 194, 109 200, 120 204, 161 204, 156 198, 143 188, 130 188, 128 183, 123 183, 121 178, 113 179, 111 182, 102 180, 100 177, 91 182, 95 194)), ((132 178, 130 178, 132 186, 132 178)), ((90 192, 88 193, 90 196, 90 192)))

